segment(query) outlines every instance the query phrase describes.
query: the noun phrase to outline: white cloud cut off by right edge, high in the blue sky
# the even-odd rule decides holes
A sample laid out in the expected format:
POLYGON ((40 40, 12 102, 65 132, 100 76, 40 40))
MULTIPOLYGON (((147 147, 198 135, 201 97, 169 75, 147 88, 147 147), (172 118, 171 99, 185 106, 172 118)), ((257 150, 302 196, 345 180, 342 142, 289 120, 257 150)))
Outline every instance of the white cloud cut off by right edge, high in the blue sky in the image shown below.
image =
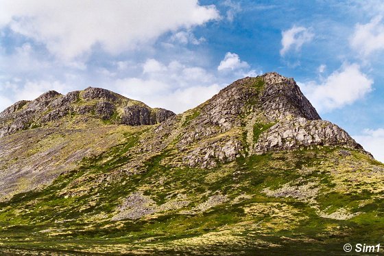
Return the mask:
POLYGON ((384 50, 384 24, 382 16, 376 16, 369 23, 357 24, 350 38, 350 45, 361 56, 384 50))

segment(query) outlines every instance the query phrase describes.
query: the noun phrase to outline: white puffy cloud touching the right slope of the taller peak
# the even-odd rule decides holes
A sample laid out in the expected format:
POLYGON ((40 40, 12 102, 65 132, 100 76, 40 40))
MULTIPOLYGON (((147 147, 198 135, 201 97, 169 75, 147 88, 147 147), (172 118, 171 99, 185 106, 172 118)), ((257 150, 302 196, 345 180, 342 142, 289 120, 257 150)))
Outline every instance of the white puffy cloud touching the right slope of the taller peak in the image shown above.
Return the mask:
POLYGON ((320 84, 314 81, 299 83, 320 112, 352 104, 372 91, 372 84, 373 80, 360 71, 359 65, 346 63, 320 84))

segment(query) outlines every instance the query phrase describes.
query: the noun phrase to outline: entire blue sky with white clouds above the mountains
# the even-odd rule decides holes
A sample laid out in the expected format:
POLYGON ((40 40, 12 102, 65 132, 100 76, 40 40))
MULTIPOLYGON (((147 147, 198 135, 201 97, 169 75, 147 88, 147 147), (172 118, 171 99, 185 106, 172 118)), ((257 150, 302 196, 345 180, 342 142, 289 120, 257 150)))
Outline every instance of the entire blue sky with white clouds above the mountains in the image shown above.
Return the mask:
POLYGON ((0 0, 0 111, 95 86, 182 113, 276 71, 384 162, 383 70, 380 0, 0 0))

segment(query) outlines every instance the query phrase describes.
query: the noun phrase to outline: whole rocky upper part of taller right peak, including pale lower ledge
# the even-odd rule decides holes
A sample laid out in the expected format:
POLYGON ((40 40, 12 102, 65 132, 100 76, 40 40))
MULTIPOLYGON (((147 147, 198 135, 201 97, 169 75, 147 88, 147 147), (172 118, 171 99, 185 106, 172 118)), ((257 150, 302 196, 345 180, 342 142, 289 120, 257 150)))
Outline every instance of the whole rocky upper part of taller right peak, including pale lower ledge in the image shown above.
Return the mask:
POLYGON ((303 147, 363 151, 345 130, 320 118, 293 78, 276 72, 239 79, 211 100, 161 124, 156 132, 160 137, 180 137, 180 161, 200 167, 303 147))

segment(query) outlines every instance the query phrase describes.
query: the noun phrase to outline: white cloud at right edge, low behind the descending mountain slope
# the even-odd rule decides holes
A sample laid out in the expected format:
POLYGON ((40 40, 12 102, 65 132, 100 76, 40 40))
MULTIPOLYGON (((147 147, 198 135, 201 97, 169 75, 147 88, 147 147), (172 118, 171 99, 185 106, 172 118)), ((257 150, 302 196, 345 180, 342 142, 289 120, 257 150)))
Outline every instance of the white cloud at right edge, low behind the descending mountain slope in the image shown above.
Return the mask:
POLYGON ((376 160, 384 163, 384 129, 365 129, 361 135, 352 136, 365 150, 371 152, 376 160))

